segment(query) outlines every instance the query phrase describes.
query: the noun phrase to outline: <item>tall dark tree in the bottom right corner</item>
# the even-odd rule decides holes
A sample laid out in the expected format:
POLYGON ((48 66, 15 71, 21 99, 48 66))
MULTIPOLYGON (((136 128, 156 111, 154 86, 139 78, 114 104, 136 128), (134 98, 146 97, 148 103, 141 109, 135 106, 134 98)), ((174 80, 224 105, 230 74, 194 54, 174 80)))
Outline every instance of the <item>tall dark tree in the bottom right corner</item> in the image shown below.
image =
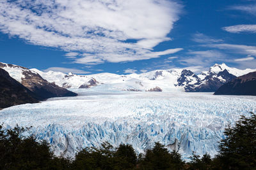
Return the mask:
POLYGON ((256 115, 241 116, 234 127, 228 125, 224 134, 217 155, 222 169, 256 169, 256 115))

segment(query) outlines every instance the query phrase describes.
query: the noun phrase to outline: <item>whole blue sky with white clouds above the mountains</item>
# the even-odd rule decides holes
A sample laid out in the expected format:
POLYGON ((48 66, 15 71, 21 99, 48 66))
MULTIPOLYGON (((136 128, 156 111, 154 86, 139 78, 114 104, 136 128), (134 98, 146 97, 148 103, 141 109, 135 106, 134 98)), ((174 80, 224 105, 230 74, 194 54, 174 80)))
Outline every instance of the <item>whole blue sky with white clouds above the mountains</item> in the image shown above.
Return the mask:
POLYGON ((256 0, 0 0, 0 62, 63 73, 256 68, 256 0))

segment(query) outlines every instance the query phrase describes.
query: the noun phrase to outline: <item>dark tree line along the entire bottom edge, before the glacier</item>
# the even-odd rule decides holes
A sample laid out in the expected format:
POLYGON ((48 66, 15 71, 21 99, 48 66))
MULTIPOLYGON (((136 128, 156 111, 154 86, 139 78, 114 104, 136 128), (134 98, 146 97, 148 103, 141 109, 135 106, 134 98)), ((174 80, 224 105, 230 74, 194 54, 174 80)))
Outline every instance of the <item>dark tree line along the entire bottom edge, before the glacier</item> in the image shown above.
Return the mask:
POLYGON ((234 127, 225 129, 220 152, 214 158, 193 153, 190 162, 170 152, 160 143, 136 155, 131 145, 113 148, 102 143, 100 148, 84 148, 73 160, 55 157, 47 142, 24 137, 29 128, 16 126, 4 130, 0 125, 0 169, 256 169, 256 115, 242 116, 234 127))

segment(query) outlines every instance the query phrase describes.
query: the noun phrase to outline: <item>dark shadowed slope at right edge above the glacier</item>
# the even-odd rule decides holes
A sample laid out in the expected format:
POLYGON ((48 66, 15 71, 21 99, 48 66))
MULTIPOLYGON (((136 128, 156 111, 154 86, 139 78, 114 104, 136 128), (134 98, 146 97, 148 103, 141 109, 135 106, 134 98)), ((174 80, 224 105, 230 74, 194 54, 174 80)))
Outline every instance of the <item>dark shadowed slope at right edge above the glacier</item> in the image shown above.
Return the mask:
POLYGON ((256 96, 256 71, 225 83, 214 94, 256 96))

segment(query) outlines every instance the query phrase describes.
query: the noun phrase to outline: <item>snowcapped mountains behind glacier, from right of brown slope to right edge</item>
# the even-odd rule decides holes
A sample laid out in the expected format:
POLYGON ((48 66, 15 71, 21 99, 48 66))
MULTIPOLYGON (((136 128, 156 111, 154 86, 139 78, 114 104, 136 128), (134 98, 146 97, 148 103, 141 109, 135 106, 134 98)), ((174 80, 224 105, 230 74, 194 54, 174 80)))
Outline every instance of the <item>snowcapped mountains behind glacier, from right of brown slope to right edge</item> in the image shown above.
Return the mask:
MULTIPOLYGON (((109 90, 150 91, 157 89, 163 92, 215 92, 221 85, 237 76, 256 71, 253 69, 236 69, 226 64, 214 64, 209 71, 196 75, 187 69, 156 70, 141 74, 119 75, 99 73, 90 75, 64 74, 38 69, 31 69, 45 80, 54 82, 64 88, 90 88, 104 85, 109 90)), ((157 90, 157 91, 158 91, 157 90)))

